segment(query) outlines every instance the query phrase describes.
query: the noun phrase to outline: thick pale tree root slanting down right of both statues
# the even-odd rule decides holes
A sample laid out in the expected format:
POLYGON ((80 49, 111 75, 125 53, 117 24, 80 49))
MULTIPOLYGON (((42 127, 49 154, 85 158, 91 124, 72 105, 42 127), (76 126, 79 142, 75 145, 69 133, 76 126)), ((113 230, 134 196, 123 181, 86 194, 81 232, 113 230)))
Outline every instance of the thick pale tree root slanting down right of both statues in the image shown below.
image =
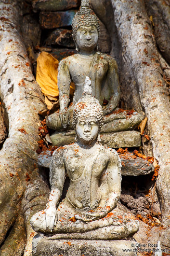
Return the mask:
MULTIPOLYGON (((129 77, 129 99, 133 97, 133 87, 139 90, 140 101, 148 118, 153 154, 160 169, 157 189, 162 206, 162 223, 170 225, 170 115, 166 83, 162 77, 158 52, 151 21, 146 14, 144 2, 112 0, 115 10, 115 24, 121 43, 121 56, 129 77)), ((126 75, 126 74, 122 74, 126 75)), ((125 96, 126 97, 126 96, 125 96)), ((137 103, 137 101, 136 101, 137 103)), ((170 243, 170 241, 169 241, 170 243)))

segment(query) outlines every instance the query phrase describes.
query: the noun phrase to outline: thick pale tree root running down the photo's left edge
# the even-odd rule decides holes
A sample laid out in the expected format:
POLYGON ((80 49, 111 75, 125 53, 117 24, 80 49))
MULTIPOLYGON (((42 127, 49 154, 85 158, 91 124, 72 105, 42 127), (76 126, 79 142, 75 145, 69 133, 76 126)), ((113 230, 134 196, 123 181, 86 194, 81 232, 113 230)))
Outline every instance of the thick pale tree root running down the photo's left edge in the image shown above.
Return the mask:
MULTIPOLYGON (((35 177, 39 180, 39 187, 43 187, 44 191, 34 202, 38 211, 42 209, 42 205, 44 207, 45 195, 49 192, 36 168, 40 126, 38 112, 43 108, 43 104, 38 98, 33 101, 26 96, 32 94, 43 98, 19 34, 18 6, 18 0, 0 2, 0 98, 3 100, 9 120, 9 137, 0 150, 0 243, 4 241, 7 231, 13 224, 13 228, 15 227, 15 221, 21 212, 23 195, 27 189, 31 190, 30 185, 34 183, 35 177)), ((29 199, 27 203, 28 201, 29 199)), ((31 214, 29 211, 26 218, 28 219, 31 214)), ((27 222, 27 234, 30 228, 27 222)), ((20 236, 21 241, 25 240, 23 233, 20 236)), ((12 238, 8 237, 2 249, 10 243, 12 238)), ((14 246, 12 247, 15 250, 14 246)))

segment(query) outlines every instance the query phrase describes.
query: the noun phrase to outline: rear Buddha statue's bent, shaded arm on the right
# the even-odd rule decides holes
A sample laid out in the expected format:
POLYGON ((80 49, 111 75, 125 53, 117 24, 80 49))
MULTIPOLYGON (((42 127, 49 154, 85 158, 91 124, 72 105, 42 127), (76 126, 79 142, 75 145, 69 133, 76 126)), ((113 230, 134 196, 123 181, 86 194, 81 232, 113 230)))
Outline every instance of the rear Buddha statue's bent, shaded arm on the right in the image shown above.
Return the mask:
POLYGON ((118 65, 113 58, 109 59, 106 83, 109 86, 111 97, 107 106, 104 108, 104 115, 110 114, 120 100, 120 86, 118 81, 118 65))

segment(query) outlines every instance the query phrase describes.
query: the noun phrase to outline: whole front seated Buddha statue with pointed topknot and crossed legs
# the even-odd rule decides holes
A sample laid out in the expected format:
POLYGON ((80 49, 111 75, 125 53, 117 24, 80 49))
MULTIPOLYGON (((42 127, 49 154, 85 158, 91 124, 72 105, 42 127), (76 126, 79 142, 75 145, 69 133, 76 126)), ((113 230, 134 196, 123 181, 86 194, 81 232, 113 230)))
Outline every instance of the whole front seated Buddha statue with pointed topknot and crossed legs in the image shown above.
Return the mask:
POLYGON ((86 78, 73 109, 77 142, 53 153, 47 207, 30 220, 36 232, 56 239, 118 240, 138 231, 139 221, 118 206, 121 163, 114 149, 99 143, 102 126, 103 109, 86 78), (70 185, 60 202, 66 173, 70 185))

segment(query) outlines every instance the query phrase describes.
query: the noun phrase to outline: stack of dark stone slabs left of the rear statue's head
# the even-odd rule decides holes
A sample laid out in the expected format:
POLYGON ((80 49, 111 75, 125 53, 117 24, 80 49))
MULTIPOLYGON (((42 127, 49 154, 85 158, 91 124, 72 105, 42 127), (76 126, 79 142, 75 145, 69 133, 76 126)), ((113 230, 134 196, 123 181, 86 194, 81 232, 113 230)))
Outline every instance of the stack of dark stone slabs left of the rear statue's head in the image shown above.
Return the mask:
POLYGON ((32 1, 33 11, 39 14, 39 25, 44 34, 40 51, 50 52, 58 60, 76 53, 71 23, 79 6, 80 0, 32 1))

